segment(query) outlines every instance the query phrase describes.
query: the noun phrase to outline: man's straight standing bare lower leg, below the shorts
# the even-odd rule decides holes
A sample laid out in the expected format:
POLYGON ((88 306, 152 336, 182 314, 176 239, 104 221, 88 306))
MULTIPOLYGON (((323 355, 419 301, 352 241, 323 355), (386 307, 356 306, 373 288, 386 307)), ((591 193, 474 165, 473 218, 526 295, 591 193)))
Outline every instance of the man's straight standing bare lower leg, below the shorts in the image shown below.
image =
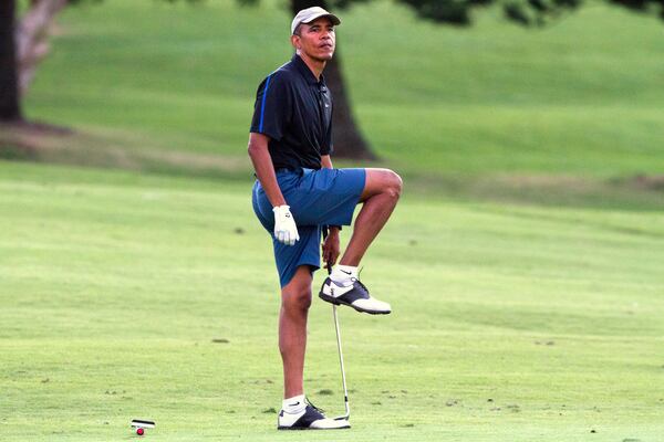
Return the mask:
POLYGON ((311 305, 311 270, 301 265, 281 290, 279 350, 283 361, 283 398, 303 394, 307 316, 311 305))

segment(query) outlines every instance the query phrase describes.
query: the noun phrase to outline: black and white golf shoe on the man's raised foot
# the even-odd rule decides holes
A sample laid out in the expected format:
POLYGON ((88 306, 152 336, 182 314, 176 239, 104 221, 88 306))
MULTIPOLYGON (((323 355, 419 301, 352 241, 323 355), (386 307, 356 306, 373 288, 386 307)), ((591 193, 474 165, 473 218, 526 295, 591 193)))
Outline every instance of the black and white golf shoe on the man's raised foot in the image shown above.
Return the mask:
POLYGON ((357 312, 370 315, 386 315, 392 312, 390 304, 372 297, 360 280, 351 277, 346 285, 336 284, 330 277, 325 280, 319 297, 336 305, 347 305, 357 312))

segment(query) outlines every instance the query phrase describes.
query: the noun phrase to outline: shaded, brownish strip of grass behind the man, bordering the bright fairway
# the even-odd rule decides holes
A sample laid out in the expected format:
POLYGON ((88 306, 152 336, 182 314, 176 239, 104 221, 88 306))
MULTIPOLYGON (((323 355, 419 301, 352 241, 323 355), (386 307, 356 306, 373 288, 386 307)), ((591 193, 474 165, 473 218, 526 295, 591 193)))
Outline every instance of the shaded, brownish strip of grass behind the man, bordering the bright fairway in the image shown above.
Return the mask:
MULTIPOLYGON (((248 186, 253 180, 251 162, 241 152, 237 156, 197 154, 151 145, 149 140, 123 133, 51 129, 39 124, 3 125, 1 129, 0 159, 232 180, 248 186)), ((598 210, 660 211, 664 208, 664 175, 610 178, 522 172, 425 175, 385 162, 357 165, 339 160, 335 166, 393 168, 404 178, 405 194, 415 198, 598 210)))

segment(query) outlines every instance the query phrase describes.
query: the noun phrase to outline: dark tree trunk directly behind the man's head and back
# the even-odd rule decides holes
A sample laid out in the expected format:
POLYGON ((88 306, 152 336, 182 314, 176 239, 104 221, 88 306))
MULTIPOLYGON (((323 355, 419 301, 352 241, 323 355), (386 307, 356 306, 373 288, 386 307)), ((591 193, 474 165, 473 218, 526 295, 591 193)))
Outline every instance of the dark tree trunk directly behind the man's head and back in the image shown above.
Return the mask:
MULTIPOLYGON (((291 11, 294 14, 298 11, 310 8, 322 7, 326 8, 324 1, 321 0, 291 0, 291 11)), ((351 103, 347 96, 347 88, 343 80, 340 65, 339 48, 334 57, 328 62, 325 66, 325 83, 332 91, 334 98, 334 110, 332 113, 332 139, 334 140, 334 156, 343 158, 363 158, 375 159, 375 155, 371 151, 369 144, 360 133, 351 103)))

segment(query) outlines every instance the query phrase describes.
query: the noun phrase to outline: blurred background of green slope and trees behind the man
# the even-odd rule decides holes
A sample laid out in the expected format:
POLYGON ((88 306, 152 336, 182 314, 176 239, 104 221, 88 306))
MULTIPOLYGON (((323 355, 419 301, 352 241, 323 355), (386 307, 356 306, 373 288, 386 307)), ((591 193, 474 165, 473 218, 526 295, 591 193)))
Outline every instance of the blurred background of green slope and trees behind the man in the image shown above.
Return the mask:
POLYGON ((256 87, 314 3, 344 19, 341 165, 374 159, 407 191, 661 197, 663 9, 642 0, 6 1, 0 155, 248 178, 256 87))

